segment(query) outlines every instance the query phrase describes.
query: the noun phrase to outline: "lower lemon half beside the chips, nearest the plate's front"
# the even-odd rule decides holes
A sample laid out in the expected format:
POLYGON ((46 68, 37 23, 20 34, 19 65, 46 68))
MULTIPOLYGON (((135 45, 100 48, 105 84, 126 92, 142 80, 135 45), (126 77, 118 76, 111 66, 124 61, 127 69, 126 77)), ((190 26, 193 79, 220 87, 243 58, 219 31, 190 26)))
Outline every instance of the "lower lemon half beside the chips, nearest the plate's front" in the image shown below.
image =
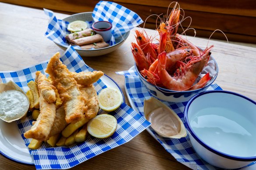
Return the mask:
POLYGON ((108 138, 117 129, 117 119, 110 114, 100 114, 87 124, 87 131, 96 138, 108 138))

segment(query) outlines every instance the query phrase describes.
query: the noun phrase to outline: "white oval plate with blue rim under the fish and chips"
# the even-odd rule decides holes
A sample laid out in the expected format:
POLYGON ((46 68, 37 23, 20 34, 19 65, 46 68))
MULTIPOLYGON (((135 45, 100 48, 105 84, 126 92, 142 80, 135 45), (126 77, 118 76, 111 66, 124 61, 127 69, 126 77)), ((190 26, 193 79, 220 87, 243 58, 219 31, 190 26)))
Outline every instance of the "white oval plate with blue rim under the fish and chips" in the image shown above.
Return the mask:
MULTIPOLYGON (((107 75, 103 75, 100 79, 107 87, 119 89, 125 103, 124 94, 114 80, 107 75)), ((16 121, 7 123, 0 120, 0 153, 14 162, 34 165, 33 156, 29 154, 28 148, 23 142, 16 121)))

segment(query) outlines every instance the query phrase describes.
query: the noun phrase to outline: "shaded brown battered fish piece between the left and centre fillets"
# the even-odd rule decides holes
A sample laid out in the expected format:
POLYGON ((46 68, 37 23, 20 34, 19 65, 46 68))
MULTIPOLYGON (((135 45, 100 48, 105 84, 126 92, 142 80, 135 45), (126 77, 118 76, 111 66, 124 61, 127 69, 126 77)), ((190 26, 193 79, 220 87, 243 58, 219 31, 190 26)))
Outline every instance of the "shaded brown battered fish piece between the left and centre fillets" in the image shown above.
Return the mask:
POLYGON ((53 127, 51 128, 49 137, 60 133, 66 126, 67 122, 65 120, 65 110, 64 107, 61 106, 56 110, 56 117, 53 122, 53 127))

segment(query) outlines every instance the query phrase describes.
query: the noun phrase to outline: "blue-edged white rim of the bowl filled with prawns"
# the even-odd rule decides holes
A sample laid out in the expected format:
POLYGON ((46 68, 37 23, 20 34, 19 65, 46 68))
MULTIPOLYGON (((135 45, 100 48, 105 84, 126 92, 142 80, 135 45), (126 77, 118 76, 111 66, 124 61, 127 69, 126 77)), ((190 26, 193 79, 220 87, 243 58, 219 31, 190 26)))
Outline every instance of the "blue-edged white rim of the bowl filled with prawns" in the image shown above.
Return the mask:
POLYGON ((200 91, 200 90, 202 90, 202 89, 204 89, 204 88, 209 87, 209 86, 216 80, 216 78, 217 78, 217 76, 218 76, 218 73, 219 73, 218 64, 217 64, 216 60, 213 58, 212 55, 210 55, 210 57, 213 59, 213 61, 214 61, 215 64, 216 64, 216 74, 215 74, 215 75, 213 76, 213 78, 209 81, 209 83, 206 84, 206 86, 204 86, 204 87, 202 87, 202 88, 199 88, 199 89, 196 89, 196 90, 176 91, 176 90, 169 90, 169 89, 166 89, 166 88, 163 88, 163 87, 158 87, 158 86, 156 86, 156 85, 154 85, 154 84, 152 84, 152 83, 149 83, 149 82, 139 73, 139 70, 138 70, 138 68, 137 68, 136 62, 134 62, 134 67, 135 67, 136 72, 138 73, 138 75, 142 78, 142 80, 145 80, 146 83, 148 83, 149 85, 155 87, 156 89, 160 89, 161 91, 164 91, 164 92, 167 92, 167 93, 168 93, 168 92, 169 92, 169 93, 170 93, 170 92, 171 92, 171 93, 174 93, 174 92, 176 92, 176 93, 193 93, 193 92, 197 92, 197 91, 200 91))

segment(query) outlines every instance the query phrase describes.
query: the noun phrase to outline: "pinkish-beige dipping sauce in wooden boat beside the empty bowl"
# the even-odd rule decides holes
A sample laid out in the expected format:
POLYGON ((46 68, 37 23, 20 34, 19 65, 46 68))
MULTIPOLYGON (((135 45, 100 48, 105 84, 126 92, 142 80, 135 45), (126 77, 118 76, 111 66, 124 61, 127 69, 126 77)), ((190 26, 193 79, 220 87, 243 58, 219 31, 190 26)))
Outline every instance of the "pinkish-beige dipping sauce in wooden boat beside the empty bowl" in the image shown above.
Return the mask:
POLYGON ((148 120, 153 129, 164 135, 177 135, 181 131, 178 118, 171 114, 167 108, 160 107, 151 111, 148 115, 148 120))

